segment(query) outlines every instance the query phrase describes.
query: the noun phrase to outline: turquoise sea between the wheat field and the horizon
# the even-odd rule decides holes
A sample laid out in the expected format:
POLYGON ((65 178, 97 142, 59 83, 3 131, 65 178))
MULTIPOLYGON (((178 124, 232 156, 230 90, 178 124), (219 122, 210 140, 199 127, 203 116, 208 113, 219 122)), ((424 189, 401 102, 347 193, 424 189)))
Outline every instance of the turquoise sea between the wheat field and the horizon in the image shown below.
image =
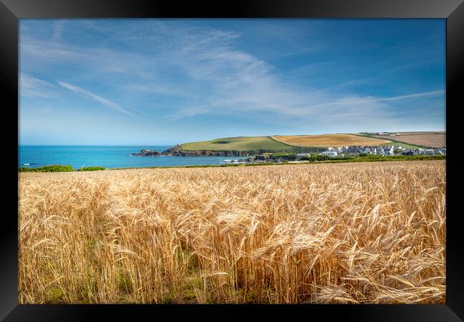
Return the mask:
POLYGON ((19 146, 18 166, 40 167, 54 164, 133 168, 148 166, 196 166, 223 164, 246 156, 131 156, 141 149, 164 151, 171 146, 19 146))

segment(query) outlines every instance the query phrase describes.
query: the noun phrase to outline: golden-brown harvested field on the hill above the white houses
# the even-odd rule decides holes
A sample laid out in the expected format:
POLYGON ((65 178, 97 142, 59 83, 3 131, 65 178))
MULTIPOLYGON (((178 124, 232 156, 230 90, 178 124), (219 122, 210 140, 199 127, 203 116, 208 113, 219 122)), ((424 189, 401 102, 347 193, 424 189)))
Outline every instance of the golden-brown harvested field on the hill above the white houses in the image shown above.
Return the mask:
POLYGON ((291 146, 378 146, 388 144, 386 139, 372 139, 353 134, 322 134, 322 135, 293 135, 293 136, 271 136, 276 141, 291 146))

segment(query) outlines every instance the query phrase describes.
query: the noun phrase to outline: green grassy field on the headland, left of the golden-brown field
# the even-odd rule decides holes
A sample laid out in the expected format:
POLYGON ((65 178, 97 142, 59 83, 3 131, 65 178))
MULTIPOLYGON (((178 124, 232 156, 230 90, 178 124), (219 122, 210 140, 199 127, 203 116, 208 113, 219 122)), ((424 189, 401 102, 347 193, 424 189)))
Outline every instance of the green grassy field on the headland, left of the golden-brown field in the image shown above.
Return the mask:
POLYGON ((263 150, 268 152, 296 152, 309 151, 305 148, 283 144, 269 136, 238 136, 235 138, 214 139, 182 144, 186 151, 251 151, 263 150))

